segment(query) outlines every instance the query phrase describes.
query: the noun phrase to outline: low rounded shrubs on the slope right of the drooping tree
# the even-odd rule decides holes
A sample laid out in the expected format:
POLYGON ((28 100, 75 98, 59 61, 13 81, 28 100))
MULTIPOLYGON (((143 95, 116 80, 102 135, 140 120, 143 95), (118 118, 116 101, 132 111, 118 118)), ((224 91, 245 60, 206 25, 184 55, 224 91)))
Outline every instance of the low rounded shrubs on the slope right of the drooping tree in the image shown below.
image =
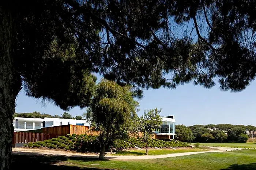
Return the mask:
MULTIPOLYGON (((139 148, 146 147, 146 143, 144 143, 141 138, 129 138, 127 140, 119 139, 115 140, 113 145, 117 149, 134 148, 135 146, 139 148)), ((189 145, 178 140, 150 139, 148 140, 148 147, 189 147, 189 145)))

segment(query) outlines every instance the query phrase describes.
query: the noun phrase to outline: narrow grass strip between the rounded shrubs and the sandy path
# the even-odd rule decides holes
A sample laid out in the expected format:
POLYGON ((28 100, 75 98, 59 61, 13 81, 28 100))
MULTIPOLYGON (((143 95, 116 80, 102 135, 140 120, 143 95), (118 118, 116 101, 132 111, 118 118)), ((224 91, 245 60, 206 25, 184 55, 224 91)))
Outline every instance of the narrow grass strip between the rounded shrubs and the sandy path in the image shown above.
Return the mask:
MULTIPOLYGON (((196 147, 196 148, 177 148, 173 149, 149 149, 148 155, 166 155, 182 152, 198 152, 198 151, 208 151, 208 147, 196 147)), ((117 151, 115 155, 145 155, 146 150, 128 150, 128 151, 117 151)))

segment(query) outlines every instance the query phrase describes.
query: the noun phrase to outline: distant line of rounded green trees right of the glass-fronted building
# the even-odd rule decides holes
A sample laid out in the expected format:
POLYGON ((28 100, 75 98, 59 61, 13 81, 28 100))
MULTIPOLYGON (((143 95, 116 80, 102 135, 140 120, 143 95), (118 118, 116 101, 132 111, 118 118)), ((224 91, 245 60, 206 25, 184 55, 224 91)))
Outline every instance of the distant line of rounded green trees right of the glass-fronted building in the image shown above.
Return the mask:
POLYGON ((246 142, 248 138, 255 137, 254 132, 256 127, 252 125, 176 125, 175 138, 182 142, 246 142))

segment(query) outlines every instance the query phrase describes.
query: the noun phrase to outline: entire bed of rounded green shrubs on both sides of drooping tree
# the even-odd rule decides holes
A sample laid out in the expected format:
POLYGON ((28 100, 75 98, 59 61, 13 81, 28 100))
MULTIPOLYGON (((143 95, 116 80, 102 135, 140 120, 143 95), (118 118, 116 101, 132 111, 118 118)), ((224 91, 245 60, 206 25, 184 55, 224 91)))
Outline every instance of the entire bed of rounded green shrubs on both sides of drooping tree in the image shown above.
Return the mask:
MULTIPOLYGON (((44 142, 38 141, 35 143, 28 143, 24 147, 48 147, 56 149, 61 148, 65 150, 76 150, 81 152, 99 152, 100 143, 98 136, 91 135, 66 135, 53 138, 51 140, 44 140, 44 142), (75 138, 75 137, 76 138, 75 138)), ((141 138, 128 138, 115 140, 112 146, 118 150, 127 148, 144 148, 146 143, 141 138)), ((178 140, 169 139, 150 139, 148 141, 148 147, 169 148, 169 147, 189 147, 188 144, 180 142, 178 140)))

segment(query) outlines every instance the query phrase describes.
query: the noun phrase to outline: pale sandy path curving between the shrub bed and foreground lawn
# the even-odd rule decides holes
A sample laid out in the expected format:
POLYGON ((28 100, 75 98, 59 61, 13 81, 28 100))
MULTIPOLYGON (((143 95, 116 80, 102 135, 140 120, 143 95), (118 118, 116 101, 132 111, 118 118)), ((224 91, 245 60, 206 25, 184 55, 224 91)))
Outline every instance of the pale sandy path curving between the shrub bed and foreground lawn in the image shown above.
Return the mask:
MULTIPOLYGON (((145 156, 114 156, 106 155, 106 159, 119 159, 119 160, 132 160, 132 159, 157 159, 157 158, 168 158, 168 157, 179 157, 185 155, 202 154, 208 152, 225 152, 227 150, 240 150, 241 148, 224 148, 224 147, 211 147, 219 150, 212 151, 200 151, 200 152, 184 152, 176 154, 166 155, 145 155, 145 156)), ((84 154, 77 152, 58 151, 58 150, 43 150, 43 149, 28 149, 28 148, 12 148, 12 154, 19 155, 59 155, 66 157, 87 157, 87 158, 98 158, 97 154, 84 154)))

